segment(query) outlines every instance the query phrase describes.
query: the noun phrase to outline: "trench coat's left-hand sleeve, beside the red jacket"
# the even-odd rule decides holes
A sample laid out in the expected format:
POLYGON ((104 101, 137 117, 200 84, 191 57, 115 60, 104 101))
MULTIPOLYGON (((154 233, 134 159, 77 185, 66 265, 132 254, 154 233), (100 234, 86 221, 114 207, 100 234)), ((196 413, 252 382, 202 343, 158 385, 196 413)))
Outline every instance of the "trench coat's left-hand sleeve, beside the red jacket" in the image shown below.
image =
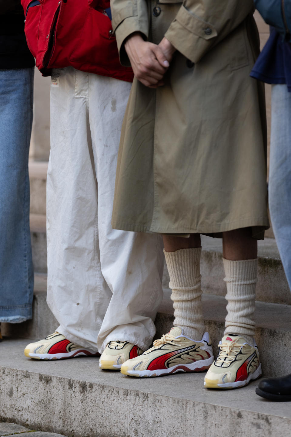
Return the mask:
POLYGON ((134 32, 140 32, 144 40, 147 40, 149 34, 147 0, 111 0, 110 8, 120 62, 124 66, 130 66, 124 42, 134 32))

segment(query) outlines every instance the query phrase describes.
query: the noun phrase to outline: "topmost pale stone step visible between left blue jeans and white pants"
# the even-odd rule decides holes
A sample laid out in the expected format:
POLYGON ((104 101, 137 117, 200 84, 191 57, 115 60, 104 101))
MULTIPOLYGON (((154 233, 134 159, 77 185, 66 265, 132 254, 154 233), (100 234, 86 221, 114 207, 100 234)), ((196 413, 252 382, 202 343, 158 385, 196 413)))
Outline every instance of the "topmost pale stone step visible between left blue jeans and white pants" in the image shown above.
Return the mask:
POLYGON ((33 214, 45 214, 48 163, 30 160, 28 170, 30 181, 30 211, 33 214))

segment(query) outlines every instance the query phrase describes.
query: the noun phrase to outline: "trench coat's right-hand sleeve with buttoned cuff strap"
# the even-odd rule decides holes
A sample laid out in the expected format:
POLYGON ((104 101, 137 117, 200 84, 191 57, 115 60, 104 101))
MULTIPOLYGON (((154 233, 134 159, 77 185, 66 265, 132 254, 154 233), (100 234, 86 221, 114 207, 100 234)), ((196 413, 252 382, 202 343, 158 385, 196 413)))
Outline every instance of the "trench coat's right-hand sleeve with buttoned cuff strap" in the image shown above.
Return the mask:
POLYGON ((253 0, 184 0, 165 37, 186 58, 199 62, 253 10, 253 0))

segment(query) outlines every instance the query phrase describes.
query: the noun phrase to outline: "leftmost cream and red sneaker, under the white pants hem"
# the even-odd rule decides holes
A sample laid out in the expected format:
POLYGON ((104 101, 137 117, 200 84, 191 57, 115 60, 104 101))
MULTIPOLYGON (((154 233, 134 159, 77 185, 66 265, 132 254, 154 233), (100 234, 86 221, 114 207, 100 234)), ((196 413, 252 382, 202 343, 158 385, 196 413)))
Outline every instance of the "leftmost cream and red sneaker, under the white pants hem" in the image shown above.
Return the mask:
POLYGON ((35 360, 61 360, 79 357, 80 355, 86 355, 87 357, 99 356, 98 353, 93 354, 84 347, 72 343, 58 332, 54 332, 44 340, 27 344, 24 355, 35 360))

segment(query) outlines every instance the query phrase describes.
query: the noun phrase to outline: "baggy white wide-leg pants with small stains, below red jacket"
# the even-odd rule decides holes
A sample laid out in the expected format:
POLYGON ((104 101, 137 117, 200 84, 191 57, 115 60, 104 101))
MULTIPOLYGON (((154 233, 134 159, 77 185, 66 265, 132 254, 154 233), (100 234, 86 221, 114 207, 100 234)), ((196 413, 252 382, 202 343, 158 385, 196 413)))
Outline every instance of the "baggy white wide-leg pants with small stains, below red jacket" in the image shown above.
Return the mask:
POLYGON ((92 352, 116 340, 146 350, 162 299, 162 239, 110 224, 131 84, 72 67, 57 74, 47 180, 48 305, 57 331, 92 352))

